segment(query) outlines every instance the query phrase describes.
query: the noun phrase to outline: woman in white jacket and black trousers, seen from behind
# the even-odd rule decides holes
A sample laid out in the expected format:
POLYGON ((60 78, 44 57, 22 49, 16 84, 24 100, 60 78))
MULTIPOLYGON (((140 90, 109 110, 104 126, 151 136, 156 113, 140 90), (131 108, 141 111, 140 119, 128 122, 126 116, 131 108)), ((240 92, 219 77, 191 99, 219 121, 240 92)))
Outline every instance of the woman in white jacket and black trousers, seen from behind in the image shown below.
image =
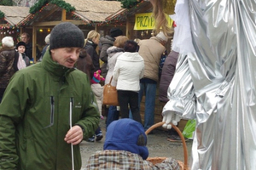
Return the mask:
POLYGON ((113 79, 117 81, 121 118, 129 118, 129 108, 135 121, 142 123, 138 108, 140 79, 144 74, 144 59, 137 53, 137 42, 125 42, 125 53, 120 54, 113 70, 113 79))

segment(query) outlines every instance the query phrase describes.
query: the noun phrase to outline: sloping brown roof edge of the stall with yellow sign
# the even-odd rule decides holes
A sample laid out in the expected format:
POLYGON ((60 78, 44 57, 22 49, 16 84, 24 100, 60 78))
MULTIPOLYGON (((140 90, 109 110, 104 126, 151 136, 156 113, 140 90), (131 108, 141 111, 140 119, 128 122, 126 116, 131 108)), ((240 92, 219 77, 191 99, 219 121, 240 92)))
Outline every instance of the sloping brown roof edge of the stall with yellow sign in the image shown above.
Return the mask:
POLYGON ((106 21, 111 22, 113 20, 118 20, 119 22, 124 22, 127 18, 134 16, 135 14, 151 13, 152 9, 153 7, 151 3, 142 1, 132 8, 121 8, 116 13, 109 15, 106 18, 106 21))

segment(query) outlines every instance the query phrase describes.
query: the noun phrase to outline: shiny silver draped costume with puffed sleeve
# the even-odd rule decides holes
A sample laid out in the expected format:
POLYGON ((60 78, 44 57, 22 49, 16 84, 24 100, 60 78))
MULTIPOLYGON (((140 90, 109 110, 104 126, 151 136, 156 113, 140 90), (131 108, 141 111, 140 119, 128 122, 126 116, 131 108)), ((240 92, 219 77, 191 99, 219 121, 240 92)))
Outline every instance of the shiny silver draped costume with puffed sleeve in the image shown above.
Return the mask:
POLYGON ((186 1, 195 52, 180 54, 163 115, 196 119, 190 169, 254 170, 256 2, 186 1))

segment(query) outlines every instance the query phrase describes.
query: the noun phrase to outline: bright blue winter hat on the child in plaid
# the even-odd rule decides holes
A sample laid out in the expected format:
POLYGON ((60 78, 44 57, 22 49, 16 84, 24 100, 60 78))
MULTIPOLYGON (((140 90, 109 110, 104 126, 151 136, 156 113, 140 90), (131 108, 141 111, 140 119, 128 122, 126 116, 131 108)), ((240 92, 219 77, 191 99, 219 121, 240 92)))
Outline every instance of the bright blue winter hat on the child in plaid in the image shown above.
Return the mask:
POLYGON ((129 118, 109 124, 103 150, 125 150, 148 158, 147 136, 141 123, 129 118))

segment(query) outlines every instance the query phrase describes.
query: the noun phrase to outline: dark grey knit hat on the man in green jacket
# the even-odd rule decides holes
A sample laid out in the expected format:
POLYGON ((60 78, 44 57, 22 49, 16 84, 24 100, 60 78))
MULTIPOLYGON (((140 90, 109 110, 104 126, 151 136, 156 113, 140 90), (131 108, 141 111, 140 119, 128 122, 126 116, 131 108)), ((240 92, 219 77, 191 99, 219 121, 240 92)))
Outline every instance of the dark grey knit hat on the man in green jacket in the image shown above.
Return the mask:
POLYGON ((70 22, 62 22, 50 32, 49 49, 83 48, 84 33, 70 22))

